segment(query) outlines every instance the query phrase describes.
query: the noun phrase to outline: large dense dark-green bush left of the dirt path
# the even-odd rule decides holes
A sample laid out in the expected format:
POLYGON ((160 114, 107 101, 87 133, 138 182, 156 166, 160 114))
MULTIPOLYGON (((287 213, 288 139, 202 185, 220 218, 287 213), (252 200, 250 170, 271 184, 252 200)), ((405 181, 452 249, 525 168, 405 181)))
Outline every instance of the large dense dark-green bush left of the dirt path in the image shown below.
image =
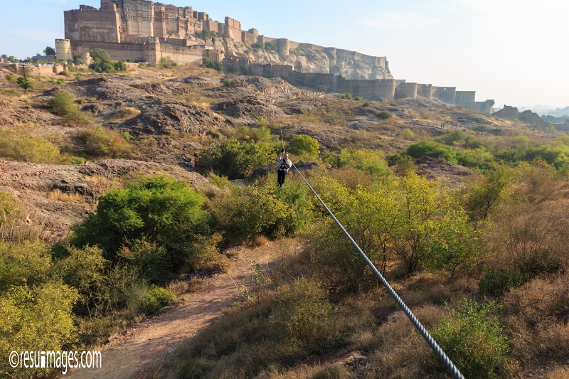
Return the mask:
POLYGON ((75 226, 75 245, 99 245, 112 262, 123 245, 146 237, 164 246, 169 269, 177 269, 195 235, 207 233, 204 196, 185 181, 168 176, 143 178, 101 196, 97 213, 75 226))

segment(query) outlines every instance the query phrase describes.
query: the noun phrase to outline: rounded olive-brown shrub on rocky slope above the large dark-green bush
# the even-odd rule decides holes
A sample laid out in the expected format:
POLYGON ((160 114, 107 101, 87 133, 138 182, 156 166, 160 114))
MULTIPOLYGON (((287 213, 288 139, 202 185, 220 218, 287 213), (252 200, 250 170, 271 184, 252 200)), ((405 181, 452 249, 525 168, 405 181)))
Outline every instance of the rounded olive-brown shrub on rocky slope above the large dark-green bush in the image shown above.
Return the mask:
POLYGON ((129 156, 132 147, 124 139, 123 135, 115 130, 105 129, 100 125, 84 129, 80 139, 85 146, 85 151, 91 156, 111 156, 122 158, 129 156))

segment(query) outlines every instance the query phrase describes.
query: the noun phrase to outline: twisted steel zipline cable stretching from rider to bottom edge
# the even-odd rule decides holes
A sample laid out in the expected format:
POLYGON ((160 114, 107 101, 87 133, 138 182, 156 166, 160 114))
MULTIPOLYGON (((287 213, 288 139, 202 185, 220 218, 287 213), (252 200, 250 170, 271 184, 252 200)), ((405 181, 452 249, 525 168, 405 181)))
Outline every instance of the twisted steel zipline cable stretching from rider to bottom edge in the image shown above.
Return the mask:
POLYGON ((295 170, 297 170, 297 173, 300 175, 300 177, 302 178, 302 180, 304 181, 304 183, 307 183, 307 186, 310 188, 310 190, 312 191, 312 193, 314 193, 314 196, 317 197, 318 201, 322 204, 322 206, 324 206, 324 209, 326 209, 326 212, 331 216, 331 218, 334 219, 334 221, 336 222, 336 224, 340 227, 340 229, 342 230, 342 232, 344 232, 344 234, 346 235, 346 237, 348 237, 348 239, 350 240, 351 244, 353 245, 353 247, 356 248, 356 250, 358 251, 359 255, 363 258, 363 260, 366 262, 366 264, 369 266, 369 268, 371 268, 371 271, 373 271, 373 274, 376 275, 376 277, 379 279, 379 281, 381 282, 381 284, 383 284, 383 287, 385 287, 385 289, 387 289, 387 291, 389 292, 389 294, 393 297, 393 299, 395 299, 395 302, 398 304, 398 306, 403 309, 403 311, 405 312, 405 314, 408 316, 408 318, 410 319, 410 321, 413 323, 413 325, 415 326, 415 329, 417 329, 419 331, 419 333, 421 333, 421 336, 423 336, 423 338, 425 338, 425 341, 427 341, 427 343, 430 345, 430 347, 432 348, 432 350, 435 352, 435 354, 437 354, 437 356, 439 357, 439 359, 442 361, 442 363, 445 364, 445 366, 447 366, 447 369, 450 371, 450 373, 452 374, 452 376, 454 376, 454 378, 456 379, 464 379, 464 375, 462 375, 462 373, 460 373, 460 370, 457 368, 456 365, 454 365, 454 363, 452 363, 452 361, 450 360, 450 358, 447 356, 447 354, 445 354, 445 351, 442 351, 442 348, 439 346, 439 344, 437 343, 437 341, 435 341, 435 338, 432 338, 432 336, 430 335, 430 333, 427 331, 427 329, 425 329, 425 326, 422 326, 422 324, 420 323, 420 321, 417 319, 417 317, 415 317, 415 314, 413 314, 413 312, 409 309, 409 307, 407 306, 407 304, 405 304, 405 302, 403 302, 403 299, 401 299, 399 297, 399 295, 397 294, 397 292, 395 292, 395 289, 393 289, 393 287, 390 286, 389 282, 387 280, 385 280, 385 278, 383 277, 383 275, 381 274, 381 272, 379 272, 379 270, 376 268, 375 265, 373 265, 373 263, 371 262, 371 260, 368 258, 368 256, 366 255, 365 252, 363 252, 361 250, 361 248, 358 246, 358 244, 356 243, 355 240, 353 240, 353 238, 351 237, 350 233, 348 233, 348 231, 344 228, 344 225, 342 225, 339 220, 336 218, 336 216, 334 215, 334 213, 332 213, 332 211, 330 210, 330 208, 328 208, 328 205, 326 205, 326 203, 324 203, 324 201, 322 201, 322 199, 320 198, 320 196, 318 196, 318 193, 316 191, 314 191, 314 188, 312 188, 312 186, 310 185, 310 183, 307 181, 306 178, 304 178, 304 176, 302 175, 302 173, 299 171, 299 169, 297 168, 297 166, 294 166, 294 164, 292 164, 292 166, 294 167, 295 170))

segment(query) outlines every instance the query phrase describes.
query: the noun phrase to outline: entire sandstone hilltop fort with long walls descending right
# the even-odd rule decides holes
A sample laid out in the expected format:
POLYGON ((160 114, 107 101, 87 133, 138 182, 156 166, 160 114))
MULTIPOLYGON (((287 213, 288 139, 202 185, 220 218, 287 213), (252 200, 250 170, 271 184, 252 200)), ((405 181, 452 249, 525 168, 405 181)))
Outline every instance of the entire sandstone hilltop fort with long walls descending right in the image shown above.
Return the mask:
POLYGON ((384 100, 426 97, 484 113, 491 113, 494 105, 493 100, 476 102, 474 91, 395 80, 385 56, 271 38, 254 28, 243 31, 241 23, 233 18, 214 21, 207 13, 194 11, 190 6, 149 0, 101 0, 99 9, 81 5, 65 11, 64 18, 65 38, 55 40, 58 59, 73 60, 79 56, 88 63, 88 54, 94 48, 107 50, 115 60, 151 65, 166 57, 179 64, 210 58, 222 61, 227 70, 235 73, 280 76, 294 85, 321 92, 349 92, 384 100), (235 44, 243 46, 230 47, 235 44), (265 50, 265 46, 270 46, 267 50, 274 49, 278 55, 275 59, 284 64, 257 61, 262 58, 255 51, 259 47, 265 50), (317 57, 314 59, 319 63, 328 65, 307 66, 291 58, 306 52, 307 57, 317 57))

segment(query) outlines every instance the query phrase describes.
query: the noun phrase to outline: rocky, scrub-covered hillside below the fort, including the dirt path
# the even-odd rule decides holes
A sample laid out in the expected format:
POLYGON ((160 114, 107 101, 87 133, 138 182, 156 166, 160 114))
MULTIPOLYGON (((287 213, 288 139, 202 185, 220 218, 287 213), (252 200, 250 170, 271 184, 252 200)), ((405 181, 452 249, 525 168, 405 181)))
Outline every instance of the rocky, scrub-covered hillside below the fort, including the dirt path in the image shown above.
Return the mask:
POLYGON ((71 377, 447 377, 294 170, 275 186, 284 146, 467 373, 569 372, 565 132, 201 65, 11 75, 0 305, 102 350, 71 377))

